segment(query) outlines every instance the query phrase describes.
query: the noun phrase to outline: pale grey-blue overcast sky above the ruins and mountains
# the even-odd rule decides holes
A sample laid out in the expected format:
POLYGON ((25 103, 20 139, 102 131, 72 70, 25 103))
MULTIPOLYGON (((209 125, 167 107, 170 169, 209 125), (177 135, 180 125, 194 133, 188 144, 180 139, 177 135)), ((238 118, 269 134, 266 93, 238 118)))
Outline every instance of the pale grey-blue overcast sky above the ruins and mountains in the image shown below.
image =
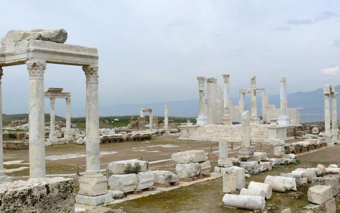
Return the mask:
MULTIPOLYGON (((340 1, 2 1, 0 20, 0 36, 63 28, 67 44, 98 48, 102 107, 197 99, 198 75, 222 86, 231 74, 232 97, 252 75, 268 94, 281 76, 288 93, 340 84, 340 1)), ((2 81, 3 112, 27 113, 26 66, 5 67, 2 81)), ((44 86, 71 92, 72 114, 85 114, 81 67, 49 64, 44 86)))

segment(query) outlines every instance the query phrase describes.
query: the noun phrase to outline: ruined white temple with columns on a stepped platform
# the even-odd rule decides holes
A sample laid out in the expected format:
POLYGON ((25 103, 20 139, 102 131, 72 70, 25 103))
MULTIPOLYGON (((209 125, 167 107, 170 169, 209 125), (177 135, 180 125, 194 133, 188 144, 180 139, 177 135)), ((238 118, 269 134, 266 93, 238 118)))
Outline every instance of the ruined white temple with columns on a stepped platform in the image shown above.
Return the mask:
POLYGON ((268 139, 290 139, 291 132, 302 129, 300 109, 287 108, 286 78, 280 78, 280 108, 268 104, 265 88, 256 87, 256 76, 251 76, 250 89, 239 90, 239 104, 229 98, 229 74, 223 74, 223 90, 217 78, 198 76, 199 101, 196 125, 179 126, 182 140, 241 141, 241 116, 245 112, 245 95, 251 96, 250 126, 252 142, 268 139), (256 96, 261 94, 262 116, 258 114, 256 96))

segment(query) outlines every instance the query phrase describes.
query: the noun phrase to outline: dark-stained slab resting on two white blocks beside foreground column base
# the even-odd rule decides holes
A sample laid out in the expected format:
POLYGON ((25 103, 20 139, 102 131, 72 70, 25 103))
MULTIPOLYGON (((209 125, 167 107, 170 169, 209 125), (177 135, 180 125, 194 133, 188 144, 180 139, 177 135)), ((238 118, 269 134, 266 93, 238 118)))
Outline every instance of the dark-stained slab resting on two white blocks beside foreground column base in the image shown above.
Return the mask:
POLYGON ((121 160, 108 163, 107 167, 114 174, 139 173, 148 171, 149 162, 137 159, 121 160))

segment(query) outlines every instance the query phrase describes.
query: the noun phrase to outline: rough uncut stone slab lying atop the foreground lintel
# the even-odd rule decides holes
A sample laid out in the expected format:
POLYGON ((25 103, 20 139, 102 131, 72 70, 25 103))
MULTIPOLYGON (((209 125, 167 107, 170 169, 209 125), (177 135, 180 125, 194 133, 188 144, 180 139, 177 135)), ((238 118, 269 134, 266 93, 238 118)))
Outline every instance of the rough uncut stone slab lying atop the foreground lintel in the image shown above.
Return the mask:
POLYGON ((63 44, 67 39, 67 32, 64 29, 44 30, 34 29, 29 31, 10 30, 1 39, 1 44, 6 45, 10 42, 22 40, 43 40, 63 44))

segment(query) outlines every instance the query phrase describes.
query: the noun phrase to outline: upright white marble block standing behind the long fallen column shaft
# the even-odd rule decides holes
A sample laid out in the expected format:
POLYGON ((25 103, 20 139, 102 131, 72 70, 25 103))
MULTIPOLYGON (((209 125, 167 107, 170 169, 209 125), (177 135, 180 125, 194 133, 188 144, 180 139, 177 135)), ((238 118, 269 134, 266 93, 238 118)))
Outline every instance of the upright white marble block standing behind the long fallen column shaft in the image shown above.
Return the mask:
POLYGON ((223 192, 231 193, 245 187, 244 168, 231 166, 223 173, 223 192))

